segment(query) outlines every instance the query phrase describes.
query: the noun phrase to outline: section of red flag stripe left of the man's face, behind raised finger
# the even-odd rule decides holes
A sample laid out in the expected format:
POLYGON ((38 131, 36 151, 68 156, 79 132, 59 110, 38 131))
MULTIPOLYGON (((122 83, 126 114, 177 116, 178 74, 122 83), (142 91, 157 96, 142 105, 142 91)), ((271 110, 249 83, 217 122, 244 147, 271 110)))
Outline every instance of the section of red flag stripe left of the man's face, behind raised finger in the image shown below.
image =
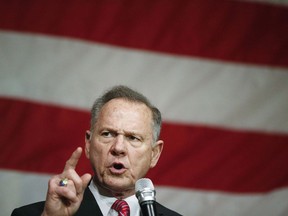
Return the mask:
MULTIPOLYGON (((84 146, 86 112, 8 98, 0 98, 0 112, 2 168, 60 173, 76 147, 84 146)), ((85 161, 79 170, 87 170, 85 161)))

